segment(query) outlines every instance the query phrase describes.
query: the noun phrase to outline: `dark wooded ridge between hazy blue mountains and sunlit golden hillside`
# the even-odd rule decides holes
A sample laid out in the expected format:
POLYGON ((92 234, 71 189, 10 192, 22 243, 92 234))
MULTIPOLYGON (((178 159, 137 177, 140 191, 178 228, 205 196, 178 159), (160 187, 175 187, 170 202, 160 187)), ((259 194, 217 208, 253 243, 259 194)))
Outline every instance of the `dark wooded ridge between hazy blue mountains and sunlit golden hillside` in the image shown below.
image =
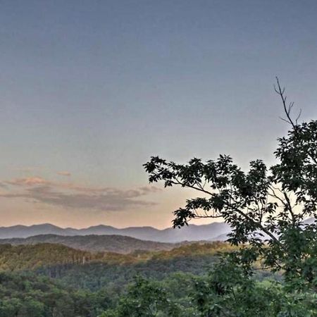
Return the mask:
POLYGON ((179 244, 144 241, 123 235, 35 235, 26 238, 2 239, 0 244, 63 244, 82 251, 116 252, 128 254, 137 250, 171 250, 179 244))

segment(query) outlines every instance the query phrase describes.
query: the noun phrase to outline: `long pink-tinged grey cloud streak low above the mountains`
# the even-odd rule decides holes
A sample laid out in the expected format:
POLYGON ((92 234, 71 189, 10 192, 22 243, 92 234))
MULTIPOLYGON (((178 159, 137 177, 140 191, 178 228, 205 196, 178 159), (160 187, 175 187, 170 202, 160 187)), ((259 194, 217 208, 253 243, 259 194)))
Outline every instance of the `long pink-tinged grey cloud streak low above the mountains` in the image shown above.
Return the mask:
POLYGON ((138 206, 152 206, 154 202, 147 201, 144 197, 161 190, 150 186, 128 190, 89 187, 52 182, 40 177, 19 178, 4 183, 10 188, 6 192, 0 192, 0 197, 3 198, 24 198, 34 203, 98 211, 123 211, 138 206))

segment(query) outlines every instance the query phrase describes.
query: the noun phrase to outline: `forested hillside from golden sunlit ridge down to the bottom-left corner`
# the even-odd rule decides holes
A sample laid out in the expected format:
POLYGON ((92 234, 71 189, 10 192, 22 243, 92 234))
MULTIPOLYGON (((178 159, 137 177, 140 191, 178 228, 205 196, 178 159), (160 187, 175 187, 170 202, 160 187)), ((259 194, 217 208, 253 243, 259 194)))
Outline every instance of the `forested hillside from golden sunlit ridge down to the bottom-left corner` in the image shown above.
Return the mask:
POLYGON ((185 304, 194 280, 206 273, 218 252, 230 250, 224 242, 130 254, 81 251, 61 244, 2 244, 0 317, 101 316, 102 311, 115 309, 136 276, 157 280, 171 298, 185 304), (185 288, 178 290, 178 285, 185 288))

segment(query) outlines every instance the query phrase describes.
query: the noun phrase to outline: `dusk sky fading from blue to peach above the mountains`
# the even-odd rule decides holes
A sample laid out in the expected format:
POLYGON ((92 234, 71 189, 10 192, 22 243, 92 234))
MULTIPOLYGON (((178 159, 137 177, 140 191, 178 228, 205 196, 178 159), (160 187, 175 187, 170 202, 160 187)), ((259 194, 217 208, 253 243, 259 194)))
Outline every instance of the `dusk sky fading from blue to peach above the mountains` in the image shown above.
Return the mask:
POLYGON ((315 0, 1 0, 0 226, 170 226, 152 155, 274 163, 317 117, 315 0))

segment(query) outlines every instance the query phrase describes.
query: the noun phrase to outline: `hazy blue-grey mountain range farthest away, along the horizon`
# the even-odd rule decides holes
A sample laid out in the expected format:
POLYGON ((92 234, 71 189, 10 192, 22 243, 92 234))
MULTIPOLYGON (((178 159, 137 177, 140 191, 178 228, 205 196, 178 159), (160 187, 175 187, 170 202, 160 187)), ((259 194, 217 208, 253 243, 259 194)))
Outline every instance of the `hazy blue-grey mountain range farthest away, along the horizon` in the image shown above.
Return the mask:
MULTIPOLYGON (((139 240, 177 243, 182 241, 225 240, 230 232, 226 223, 210 223, 209 225, 188 225, 181 229, 166 228, 159 230, 152 227, 129 227, 118 229, 109 225, 97 225, 84 229, 59 228, 56 225, 14 225, 0 227, 0 239, 25 238, 35 235, 121 235, 139 240)), ((46 241, 49 242, 49 241, 46 241)))

